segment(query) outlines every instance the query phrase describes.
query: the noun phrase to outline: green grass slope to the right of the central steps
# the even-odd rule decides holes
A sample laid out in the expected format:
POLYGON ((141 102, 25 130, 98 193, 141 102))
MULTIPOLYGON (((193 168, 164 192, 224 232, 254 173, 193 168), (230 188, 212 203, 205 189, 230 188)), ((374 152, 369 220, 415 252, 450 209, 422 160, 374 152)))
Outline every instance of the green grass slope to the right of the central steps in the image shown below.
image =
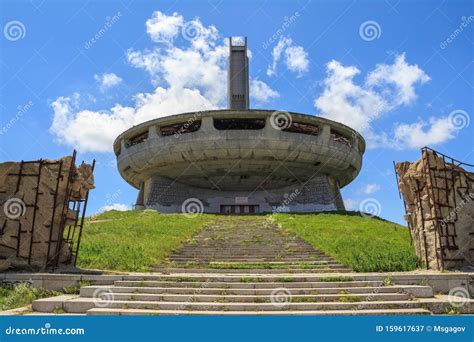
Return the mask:
POLYGON ((417 268, 408 228, 358 213, 277 214, 276 221, 356 272, 417 268))

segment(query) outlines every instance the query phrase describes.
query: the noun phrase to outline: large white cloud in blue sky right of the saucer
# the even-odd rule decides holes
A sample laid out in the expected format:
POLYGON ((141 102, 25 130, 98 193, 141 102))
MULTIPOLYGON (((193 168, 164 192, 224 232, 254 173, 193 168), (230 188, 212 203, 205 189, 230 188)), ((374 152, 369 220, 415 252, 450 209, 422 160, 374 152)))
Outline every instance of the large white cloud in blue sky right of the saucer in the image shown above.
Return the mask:
POLYGON ((392 132, 373 127, 384 115, 414 103, 416 87, 430 80, 418 65, 406 61, 405 54, 396 56, 392 64, 376 65, 361 83, 354 80, 360 74, 357 67, 332 60, 326 70, 324 90, 314 100, 315 107, 322 116, 360 131, 369 147, 418 148, 455 136, 457 130, 449 117, 397 124, 392 132))

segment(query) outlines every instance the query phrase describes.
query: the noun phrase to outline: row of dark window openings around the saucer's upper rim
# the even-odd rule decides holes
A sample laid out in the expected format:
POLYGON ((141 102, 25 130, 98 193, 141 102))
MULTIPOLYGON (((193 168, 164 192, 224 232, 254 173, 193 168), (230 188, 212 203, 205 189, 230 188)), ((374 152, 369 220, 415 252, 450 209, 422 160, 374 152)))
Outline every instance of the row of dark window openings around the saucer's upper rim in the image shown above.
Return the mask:
MULTIPOLYGON (((223 130, 260 130, 265 127, 265 119, 214 119, 214 128, 223 130)), ((159 131, 162 136, 181 135, 196 132, 201 128, 201 120, 189 120, 177 124, 160 126, 159 131)), ((292 122, 289 127, 282 129, 284 132, 299 133, 317 136, 320 134, 318 125, 292 122)), ((331 129, 331 138, 349 147, 352 146, 351 139, 343 134, 331 129)), ((127 140, 127 147, 142 143, 148 139, 148 131, 137 134, 127 140)), ((120 153, 120 152, 119 152, 120 153)))

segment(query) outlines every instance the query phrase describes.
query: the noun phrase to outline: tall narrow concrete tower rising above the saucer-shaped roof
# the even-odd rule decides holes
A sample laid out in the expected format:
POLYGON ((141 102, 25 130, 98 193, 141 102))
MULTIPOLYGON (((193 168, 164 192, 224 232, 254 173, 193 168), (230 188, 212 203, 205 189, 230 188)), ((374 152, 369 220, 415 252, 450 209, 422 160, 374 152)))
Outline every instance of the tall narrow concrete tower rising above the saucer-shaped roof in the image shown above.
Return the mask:
POLYGON ((229 109, 249 109, 247 37, 229 38, 227 68, 227 107, 229 109))

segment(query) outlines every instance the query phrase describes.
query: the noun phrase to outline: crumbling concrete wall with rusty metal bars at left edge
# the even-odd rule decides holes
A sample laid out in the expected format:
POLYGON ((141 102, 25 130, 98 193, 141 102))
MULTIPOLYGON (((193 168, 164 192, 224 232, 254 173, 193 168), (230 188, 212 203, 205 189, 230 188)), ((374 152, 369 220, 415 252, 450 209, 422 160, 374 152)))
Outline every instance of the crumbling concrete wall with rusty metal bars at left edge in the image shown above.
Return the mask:
POLYGON ((0 164, 0 269, 42 269, 56 255, 60 263, 69 259, 69 246, 59 240, 76 219, 67 202, 94 187, 91 165, 72 161, 0 164))

